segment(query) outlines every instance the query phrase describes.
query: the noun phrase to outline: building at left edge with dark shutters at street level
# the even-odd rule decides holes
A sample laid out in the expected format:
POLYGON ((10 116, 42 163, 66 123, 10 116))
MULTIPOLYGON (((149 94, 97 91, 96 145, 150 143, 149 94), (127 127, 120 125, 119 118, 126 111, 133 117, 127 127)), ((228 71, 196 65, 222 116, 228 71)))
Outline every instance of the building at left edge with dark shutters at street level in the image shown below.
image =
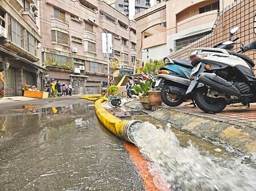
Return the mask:
POLYGON ((42 88, 44 68, 38 62, 41 37, 36 26, 37 1, 0 1, 0 68, 6 70, 5 96, 21 96, 24 84, 42 88))

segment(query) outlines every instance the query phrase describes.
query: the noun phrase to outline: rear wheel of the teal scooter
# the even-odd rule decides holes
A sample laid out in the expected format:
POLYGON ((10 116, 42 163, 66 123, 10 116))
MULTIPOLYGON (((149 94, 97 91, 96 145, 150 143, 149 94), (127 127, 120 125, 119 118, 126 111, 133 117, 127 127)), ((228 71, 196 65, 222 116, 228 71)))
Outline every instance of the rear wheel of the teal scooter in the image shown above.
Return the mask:
POLYGON ((183 103, 184 97, 181 95, 173 94, 169 89, 169 84, 164 84, 161 90, 161 98, 163 102, 171 107, 176 107, 183 103))

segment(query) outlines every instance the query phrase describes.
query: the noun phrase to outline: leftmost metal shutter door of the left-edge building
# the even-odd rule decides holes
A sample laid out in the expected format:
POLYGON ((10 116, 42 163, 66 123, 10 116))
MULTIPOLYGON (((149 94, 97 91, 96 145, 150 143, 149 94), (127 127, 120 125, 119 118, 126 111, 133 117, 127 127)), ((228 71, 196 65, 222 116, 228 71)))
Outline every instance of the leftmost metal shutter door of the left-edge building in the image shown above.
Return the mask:
POLYGON ((5 71, 5 95, 6 96, 18 96, 18 76, 16 69, 13 67, 9 67, 8 70, 5 71))

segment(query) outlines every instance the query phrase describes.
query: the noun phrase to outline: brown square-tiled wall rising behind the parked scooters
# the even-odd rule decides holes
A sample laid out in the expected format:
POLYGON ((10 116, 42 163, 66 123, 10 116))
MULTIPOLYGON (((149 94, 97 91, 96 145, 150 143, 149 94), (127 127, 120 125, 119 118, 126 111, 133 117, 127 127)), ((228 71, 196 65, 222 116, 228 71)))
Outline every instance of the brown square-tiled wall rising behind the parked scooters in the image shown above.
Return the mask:
MULTIPOLYGON (((238 0, 229 7, 226 7, 224 13, 216 20, 213 33, 204 37, 200 42, 191 44, 187 49, 171 55, 171 58, 188 58, 187 51, 197 47, 212 47, 218 43, 228 40, 230 29, 238 26, 240 29, 236 32, 233 38, 240 37, 240 42, 248 44, 256 39, 254 33, 254 18, 256 16, 255 0, 238 0)), ((240 44, 234 46, 233 51, 239 50, 240 44)), ((256 54, 252 51, 246 52, 251 60, 256 62, 256 54)), ((256 67, 254 67, 256 74, 256 67)))

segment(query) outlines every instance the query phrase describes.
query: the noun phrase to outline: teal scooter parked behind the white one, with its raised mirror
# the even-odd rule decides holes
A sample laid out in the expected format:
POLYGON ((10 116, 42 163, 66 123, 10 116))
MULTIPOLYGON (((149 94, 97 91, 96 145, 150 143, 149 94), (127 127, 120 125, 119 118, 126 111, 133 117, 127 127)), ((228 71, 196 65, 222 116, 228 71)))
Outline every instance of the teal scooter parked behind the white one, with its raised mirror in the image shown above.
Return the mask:
MULTIPOLYGON (((230 37, 228 42, 232 43, 220 43, 214 47, 221 49, 232 49, 234 47, 234 42, 238 40, 232 40, 232 36, 237 32, 239 27, 235 27, 230 31, 230 37)), ((214 48, 212 48, 214 51, 214 48)), ((192 97, 186 95, 189 84, 191 83, 190 75, 193 66, 188 60, 183 59, 172 59, 164 58, 164 63, 166 66, 161 67, 157 75, 160 81, 161 98, 166 105, 171 107, 176 107, 183 103, 185 99, 191 99, 192 97)), ((192 104, 195 103, 192 100, 192 104)))

